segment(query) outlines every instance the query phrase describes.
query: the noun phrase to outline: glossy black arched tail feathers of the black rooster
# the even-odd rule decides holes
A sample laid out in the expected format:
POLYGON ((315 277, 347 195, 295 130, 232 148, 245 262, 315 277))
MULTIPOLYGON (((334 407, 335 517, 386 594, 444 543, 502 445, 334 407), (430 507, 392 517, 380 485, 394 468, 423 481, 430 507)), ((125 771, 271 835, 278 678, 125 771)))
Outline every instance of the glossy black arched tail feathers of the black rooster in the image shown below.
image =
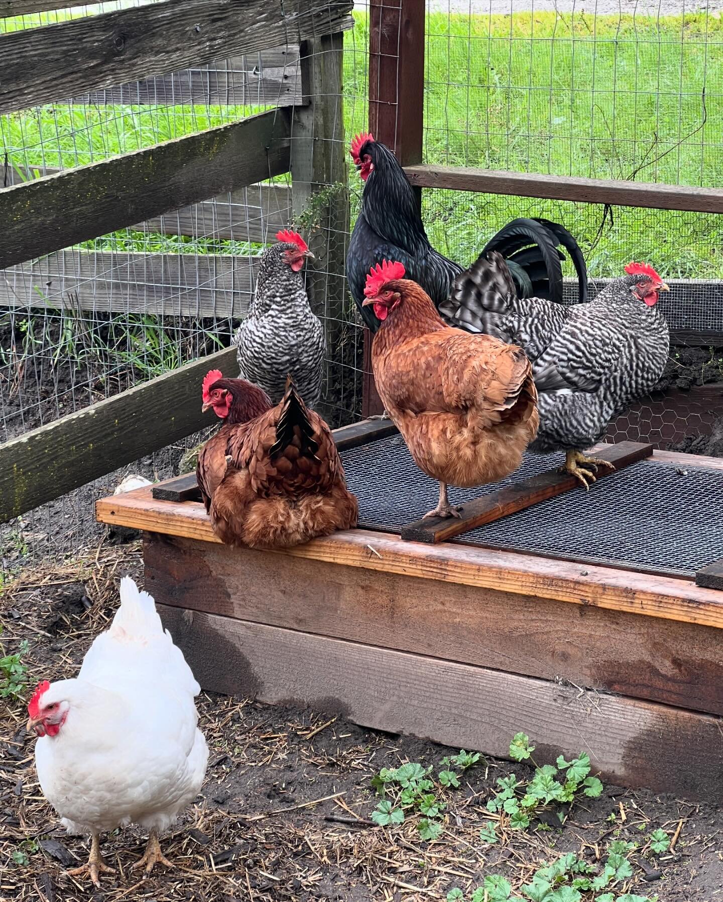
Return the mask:
POLYGON ((580 245, 564 226, 549 219, 513 219, 485 245, 505 258, 518 298, 563 300, 562 246, 575 267, 580 303, 588 296, 588 273, 580 245))

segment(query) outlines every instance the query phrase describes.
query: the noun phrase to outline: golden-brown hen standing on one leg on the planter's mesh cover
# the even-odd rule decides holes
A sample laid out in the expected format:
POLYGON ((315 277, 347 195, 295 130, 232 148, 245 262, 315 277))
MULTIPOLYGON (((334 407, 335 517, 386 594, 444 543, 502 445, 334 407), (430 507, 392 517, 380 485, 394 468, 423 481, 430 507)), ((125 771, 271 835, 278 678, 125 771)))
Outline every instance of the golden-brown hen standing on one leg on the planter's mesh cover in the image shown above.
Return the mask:
POLYGON ((401 263, 372 267, 364 293, 380 327, 374 381, 416 465, 439 481, 426 517, 459 516, 447 484, 490 483, 517 470, 537 431, 537 393, 520 348, 444 324, 401 263))

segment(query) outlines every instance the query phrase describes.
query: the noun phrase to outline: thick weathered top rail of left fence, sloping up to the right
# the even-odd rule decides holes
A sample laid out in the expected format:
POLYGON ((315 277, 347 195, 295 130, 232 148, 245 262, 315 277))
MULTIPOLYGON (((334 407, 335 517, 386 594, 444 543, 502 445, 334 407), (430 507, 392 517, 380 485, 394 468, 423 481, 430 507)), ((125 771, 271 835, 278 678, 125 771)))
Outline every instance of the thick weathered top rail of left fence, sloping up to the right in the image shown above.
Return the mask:
POLYGON ((159 0, 0 35, 0 114, 352 26, 351 0, 159 0))

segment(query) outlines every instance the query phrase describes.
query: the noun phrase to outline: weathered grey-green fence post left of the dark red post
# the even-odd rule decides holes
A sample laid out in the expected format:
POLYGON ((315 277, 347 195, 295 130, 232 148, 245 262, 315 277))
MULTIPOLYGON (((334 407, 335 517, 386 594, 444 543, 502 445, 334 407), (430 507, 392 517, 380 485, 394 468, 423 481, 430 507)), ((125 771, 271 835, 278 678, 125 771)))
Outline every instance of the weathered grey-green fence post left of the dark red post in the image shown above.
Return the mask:
MULTIPOLYGON (((307 263, 311 308, 325 324, 327 391, 334 408, 343 347, 349 238, 349 188, 343 130, 343 34, 301 44, 301 91, 306 106, 294 109, 291 125, 291 205, 294 225, 315 260, 307 263)), ((326 416, 331 413, 322 411, 326 416)), ((334 417, 332 416, 332 419, 334 417)))

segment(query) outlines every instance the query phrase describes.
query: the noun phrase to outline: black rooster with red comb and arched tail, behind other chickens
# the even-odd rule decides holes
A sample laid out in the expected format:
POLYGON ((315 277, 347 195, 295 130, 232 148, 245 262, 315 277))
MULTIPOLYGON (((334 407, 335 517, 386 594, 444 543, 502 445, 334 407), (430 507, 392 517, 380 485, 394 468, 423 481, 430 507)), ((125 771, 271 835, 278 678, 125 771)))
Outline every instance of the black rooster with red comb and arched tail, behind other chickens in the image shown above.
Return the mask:
MULTIPOLYGON (((359 134, 352 141, 351 154, 365 184, 346 256, 346 278, 364 323, 372 332, 379 325, 371 308, 362 308, 361 303, 371 266, 383 260, 403 263, 407 279, 421 285, 444 315, 453 281, 464 268, 429 244, 412 187, 389 148, 374 141, 371 134, 359 134)), ((577 242, 563 226, 547 219, 514 219, 482 253, 502 254, 518 297, 559 302, 563 299, 561 263, 565 259, 560 245, 570 254, 578 275, 580 302, 584 303, 588 294, 585 261, 577 242)), ((453 325, 464 327, 459 322, 453 325)))

